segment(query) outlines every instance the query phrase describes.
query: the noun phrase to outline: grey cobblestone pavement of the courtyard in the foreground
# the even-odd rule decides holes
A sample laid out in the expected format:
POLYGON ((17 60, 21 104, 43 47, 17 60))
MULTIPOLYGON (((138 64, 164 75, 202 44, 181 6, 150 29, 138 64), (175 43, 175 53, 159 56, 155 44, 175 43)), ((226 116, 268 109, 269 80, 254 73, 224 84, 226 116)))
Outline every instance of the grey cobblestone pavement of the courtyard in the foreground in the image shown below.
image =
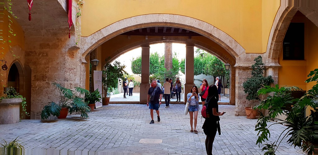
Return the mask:
MULTIPOLYGON (((201 107, 202 105, 200 105, 201 107)), ((234 116, 235 106, 219 105, 221 132, 213 143, 216 155, 263 154, 255 145, 255 120, 234 116)), ((157 155, 206 154, 204 119, 198 116, 198 134, 190 132, 189 114, 184 115, 184 105, 171 104, 160 107, 161 121, 150 122, 150 110, 140 104, 110 104, 89 113, 89 119, 79 115, 55 121, 22 120, 16 124, 0 125, 0 139, 11 141, 18 137, 26 155, 157 155), (141 139, 161 139, 159 144, 139 143, 141 139)), ((155 118, 156 118, 156 114, 155 118)), ((278 137, 285 129, 280 124, 271 128, 271 136, 278 137)), ((160 141, 160 140, 159 140, 160 141)), ((283 140, 277 155, 301 154, 283 140)), ((299 150, 298 150, 299 151, 299 150)))

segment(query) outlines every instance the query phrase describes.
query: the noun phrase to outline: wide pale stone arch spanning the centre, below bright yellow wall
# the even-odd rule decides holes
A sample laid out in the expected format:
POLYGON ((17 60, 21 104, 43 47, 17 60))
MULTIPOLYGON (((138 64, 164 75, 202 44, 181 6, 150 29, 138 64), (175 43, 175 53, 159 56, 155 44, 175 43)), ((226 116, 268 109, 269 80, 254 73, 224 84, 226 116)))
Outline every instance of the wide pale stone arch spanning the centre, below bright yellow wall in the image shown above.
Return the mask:
POLYGON ((86 55, 111 38, 131 30, 152 26, 178 27, 199 33, 216 42, 234 58, 245 52, 245 49, 231 36, 204 21, 174 14, 147 14, 122 19, 88 37, 81 37, 82 62, 86 63, 86 55))

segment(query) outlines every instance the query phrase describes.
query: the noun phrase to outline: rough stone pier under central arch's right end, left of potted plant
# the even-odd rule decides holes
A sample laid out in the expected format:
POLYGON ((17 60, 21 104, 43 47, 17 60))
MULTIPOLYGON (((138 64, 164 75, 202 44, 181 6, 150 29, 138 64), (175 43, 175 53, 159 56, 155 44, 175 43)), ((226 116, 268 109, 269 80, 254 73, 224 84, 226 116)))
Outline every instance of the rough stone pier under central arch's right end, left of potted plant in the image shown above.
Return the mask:
POLYGON ((237 67, 235 69, 235 116, 246 116, 245 107, 251 107, 252 100, 247 100, 243 82, 251 77, 251 69, 237 67))

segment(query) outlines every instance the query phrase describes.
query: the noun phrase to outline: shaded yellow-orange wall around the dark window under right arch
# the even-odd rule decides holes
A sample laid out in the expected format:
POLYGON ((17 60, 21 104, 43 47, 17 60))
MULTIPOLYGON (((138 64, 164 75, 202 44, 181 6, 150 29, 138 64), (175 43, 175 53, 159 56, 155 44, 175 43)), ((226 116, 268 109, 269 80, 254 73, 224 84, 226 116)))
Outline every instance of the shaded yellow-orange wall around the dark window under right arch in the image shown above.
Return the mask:
POLYGON ((298 86, 309 90, 315 83, 305 83, 311 70, 318 68, 318 27, 304 16, 294 17, 292 22, 305 23, 305 60, 283 60, 281 50, 278 71, 278 84, 281 86, 298 86))

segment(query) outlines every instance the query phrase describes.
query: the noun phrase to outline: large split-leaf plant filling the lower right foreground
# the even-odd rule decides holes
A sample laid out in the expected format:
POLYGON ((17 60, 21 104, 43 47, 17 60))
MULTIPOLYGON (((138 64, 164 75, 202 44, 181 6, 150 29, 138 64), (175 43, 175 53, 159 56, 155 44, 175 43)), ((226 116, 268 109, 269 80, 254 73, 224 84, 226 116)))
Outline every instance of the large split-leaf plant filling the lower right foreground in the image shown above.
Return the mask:
POLYGON ((277 148, 279 147, 282 139, 288 138, 287 143, 290 143, 294 147, 300 147, 305 152, 310 152, 313 150, 314 145, 318 142, 318 69, 311 71, 305 82, 315 82, 314 85, 307 93, 300 99, 293 99, 291 92, 301 90, 298 87, 281 87, 278 85, 274 87, 265 86, 258 91, 260 94, 273 94, 268 95, 268 97, 261 101, 261 103, 256 106, 259 109, 268 110, 268 114, 264 116, 260 115, 258 122, 255 126, 255 131, 258 131, 258 139, 256 144, 262 144, 265 141, 269 141, 270 130, 269 128, 278 123, 273 123, 267 126, 271 120, 277 120, 286 123, 287 128, 277 137, 277 140, 266 143, 263 147, 263 151, 266 151, 266 155, 275 155, 277 148), (287 104, 296 102, 292 107, 291 111, 284 110, 287 104), (312 108, 310 114, 305 117, 305 112, 307 108, 312 108), (287 118, 281 120, 276 118, 278 115, 285 115, 287 118))

